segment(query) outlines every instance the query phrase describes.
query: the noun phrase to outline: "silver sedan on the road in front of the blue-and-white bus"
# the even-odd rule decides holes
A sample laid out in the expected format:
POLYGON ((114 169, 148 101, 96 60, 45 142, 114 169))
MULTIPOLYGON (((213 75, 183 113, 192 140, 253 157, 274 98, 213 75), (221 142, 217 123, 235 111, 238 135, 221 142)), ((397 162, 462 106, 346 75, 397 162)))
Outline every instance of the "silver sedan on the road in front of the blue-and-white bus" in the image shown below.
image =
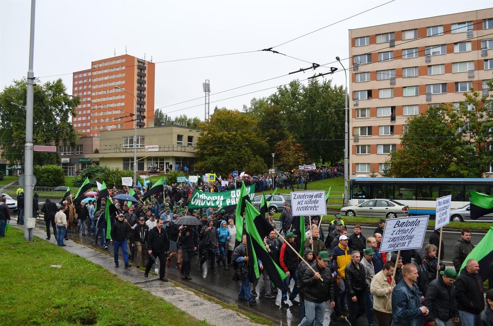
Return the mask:
POLYGON ((390 199, 371 199, 359 205, 343 207, 341 214, 393 219, 409 216, 409 207, 390 199))

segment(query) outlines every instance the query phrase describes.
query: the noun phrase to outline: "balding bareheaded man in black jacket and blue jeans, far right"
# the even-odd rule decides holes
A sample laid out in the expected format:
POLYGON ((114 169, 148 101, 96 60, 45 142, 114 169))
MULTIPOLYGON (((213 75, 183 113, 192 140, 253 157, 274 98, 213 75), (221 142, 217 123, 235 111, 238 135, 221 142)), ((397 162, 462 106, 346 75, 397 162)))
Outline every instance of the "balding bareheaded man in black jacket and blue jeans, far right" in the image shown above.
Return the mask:
POLYGON ((474 326, 477 316, 484 309, 483 280, 478 272, 478 262, 469 259, 455 281, 455 299, 463 326, 474 326))

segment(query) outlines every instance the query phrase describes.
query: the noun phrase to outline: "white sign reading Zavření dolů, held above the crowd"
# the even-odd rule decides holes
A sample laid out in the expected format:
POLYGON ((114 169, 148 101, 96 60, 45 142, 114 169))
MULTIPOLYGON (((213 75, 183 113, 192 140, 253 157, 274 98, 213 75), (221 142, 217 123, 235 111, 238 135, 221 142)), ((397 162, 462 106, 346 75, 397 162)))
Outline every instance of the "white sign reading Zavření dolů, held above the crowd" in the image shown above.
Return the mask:
POLYGON ((293 216, 327 215, 325 190, 291 192, 291 209, 293 216))

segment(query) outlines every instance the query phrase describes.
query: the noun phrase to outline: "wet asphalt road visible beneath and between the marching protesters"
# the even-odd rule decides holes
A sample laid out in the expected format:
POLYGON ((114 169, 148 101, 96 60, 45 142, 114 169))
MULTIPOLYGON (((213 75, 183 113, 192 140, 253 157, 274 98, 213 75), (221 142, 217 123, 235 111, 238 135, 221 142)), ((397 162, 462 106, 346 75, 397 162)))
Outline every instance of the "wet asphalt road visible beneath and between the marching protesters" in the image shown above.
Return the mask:
MULTIPOLYGON (((16 218, 16 217, 14 217, 16 218)), ((45 228, 44 221, 42 219, 37 219, 36 225, 41 228, 45 228)), ((322 225, 324 229, 324 233, 327 234, 327 226, 322 225)), ((375 229, 375 226, 372 227, 362 227, 362 233, 366 237, 370 236, 371 233, 373 233, 373 230, 375 229)), ((353 232, 353 227, 348 225, 348 233, 351 234, 353 232)), ((426 236, 424 239, 424 243, 428 243, 428 238, 429 234, 432 233, 432 231, 427 231, 426 236)), ((101 244, 98 244, 97 246, 94 244, 94 236, 90 236, 89 233, 87 233, 87 236, 82 236, 82 235, 77 235, 77 234, 72 234, 69 233, 69 239, 72 241, 78 241, 81 243, 84 243, 88 245, 89 247, 94 247, 98 248, 99 250, 104 251, 104 247, 101 246, 101 244)), ((452 251, 455 243, 457 240, 460 238, 460 231, 444 231, 443 233, 444 241, 445 241, 445 265, 446 266, 452 266, 451 262, 451 257, 452 257, 452 251)), ((472 234, 472 239, 471 241, 474 244, 477 244, 483 237, 483 234, 481 233, 473 233, 472 234)), ((70 241, 69 240, 69 241, 70 241)), ((112 252, 113 252, 113 246, 112 244, 109 243, 108 246, 108 259, 112 259, 112 252), (110 258, 111 257, 111 258, 110 258)), ((171 260, 171 265, 166 268, 166 277, 170 278, 171 280, 181 283, 183 285, 186 285, 190 288, 193 288, 194 290, 206 293, 218 300, 221 300, 227 304, 237 304, 240 309, 243 309, 245 311, 252 312, 253 314, 262 316, 268 320, 273 321, 277 325, 297 325, 300 322, 299 318, 299 313, 300 313, 300 308, 297 305, 291 305, 291 302, 288 300, 287 302, 290 304, 289 307, 284 308, 280 307, 280 301, 281 301, 281 292, 276 295, 276 298, 265 298, 264 294, 264 282, 261 277, 261 280, 259 281, 259 284, 257 286, 257 293, 259 296, 257 297, 257 302, 258 304, 253 307, 247 306, 244 302, 242 301, 237 301, 237 296, 239 292, 239 285, 232 281, 232 275, 233 275, 233 269, 232 267, 230 268, 229 271, 225 271, 223 267, 217 267, 216 269, 218 273, 212 273, 210 271, 210 268, 208 266, 208 262, 206 262, 203 266, 203 270, 200 271, 198 268, 199 265, 199 259, 198 256, 195 256, 192 262, 192 271, 191 271, 191 281, 186 281, 182 280, 180 275, 179 275, 179 270, 175 269, 174 266, 176 264, 176 257, 173 257, 171 260)), ((135 265, 135 263, 132 262, 132 265, 135 265)), ((157 267, 154 265, 154 267, 157 267)), ((141 267, 142 271, 144 270, 141 267)), ((293 282, 291 282, 291 288, 293 286, 293 282)), ((348 326, 348 323, 345 321, 335 321, 331 320, 330 315, 332 313, 332 308, 330 308, 327 305, 326 308, 326 315, 325 315, 325 320, 324 324, 333 324, 335 326, 348 326)), ((344 312, 347 314, 347 312, 344 312)), ((359 326, 366 326, 367 321, 365 315, 363 315, 361 318, 358 319, 358 325, 359 326)))

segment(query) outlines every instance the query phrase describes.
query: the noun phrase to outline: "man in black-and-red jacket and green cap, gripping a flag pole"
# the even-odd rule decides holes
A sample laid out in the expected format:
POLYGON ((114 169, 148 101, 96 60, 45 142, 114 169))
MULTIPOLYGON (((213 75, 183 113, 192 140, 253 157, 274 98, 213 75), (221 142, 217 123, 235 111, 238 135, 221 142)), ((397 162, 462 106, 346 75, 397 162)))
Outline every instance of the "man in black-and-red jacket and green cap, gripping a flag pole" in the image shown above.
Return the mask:
MULTIPOLYGON (((289 242, 291 247, 294 248, 296 252, 298 252, 298 246, 296 242, 294 242, 294 238, 296 235, 293 232, 288 232, 286 234, 286 241, 289 242)), ((286 243, 283 243, 281 246, 281 252, 279 253, 279 263, 281 265, 282 270, 286 273, 286 278, 284 279, 284 290, 282 290, 281 296, 281 307, 289 307, 289 304, 286 302, 287 300, 287 289, 289 288, 289 283, 291 279, 294 280, 293 290, 289 295, 289 300, 292 304, 299 304, 296 301, 296 296, 298 295, 298 286, 296 285, 298 281, 298 276, 296 274, 296 269, 298 268, 298 255, 291 248, 288 247, 286 243)))

